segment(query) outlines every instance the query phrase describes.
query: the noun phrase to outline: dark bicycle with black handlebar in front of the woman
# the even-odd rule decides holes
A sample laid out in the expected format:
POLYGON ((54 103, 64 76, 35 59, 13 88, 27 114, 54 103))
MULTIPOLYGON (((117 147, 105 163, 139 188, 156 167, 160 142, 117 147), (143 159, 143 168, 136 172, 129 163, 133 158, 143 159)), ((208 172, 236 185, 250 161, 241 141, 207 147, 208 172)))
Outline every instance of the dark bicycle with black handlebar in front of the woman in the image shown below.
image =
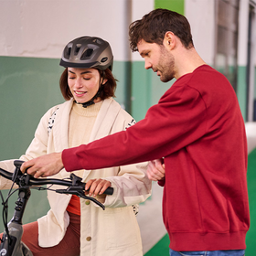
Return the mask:
MULTIPOLYGON (((14 161, 14 165, 16 166, 14 173, 8 172, 0 168, 0 176, 4 176, 5 178, 12 180, 13 186, 15 183, 18 186, 18 188, 16 188, 12 193, 11 191, 13 189, 13 186, 11 187, 9 194, 5 200, 0 191, 0 196, 2 197, 4 205, 3 220, 5 226, 2 242, 0 244, 1 256, 33 256, 32 252, 29 250, 27 245, 21 241, 21 237, 23 234, 22 218, 25 212, 27 201, 31 195, 30 188, 37 190, 50 189, 61 194, 76 195, 78 197, 91 200, 92 202, 100 206, 102 209, 105 209, 105 207, 95 198, 85 196, 84 191, 86 183, 81 182, 81 178, 79 176, 70 174, 70 180, 58 178, 35 178, 34 176, 23 174, 20 171, 20 166, 23 162, 24 161, 21 160, 14 161), (42 187, 44 185, 60 185, 67 188, 51 189, 50 187, 42 187), (15 212, 13 218, 7 224, 6 219, 8 198, 11 197, 16 192, 16 190, 18 190, 18 198, 16 201, 15 212)), ((108 187, 104 192, 104 194, 106 195, 112 195, 112 193, 112 187, 108 187)))

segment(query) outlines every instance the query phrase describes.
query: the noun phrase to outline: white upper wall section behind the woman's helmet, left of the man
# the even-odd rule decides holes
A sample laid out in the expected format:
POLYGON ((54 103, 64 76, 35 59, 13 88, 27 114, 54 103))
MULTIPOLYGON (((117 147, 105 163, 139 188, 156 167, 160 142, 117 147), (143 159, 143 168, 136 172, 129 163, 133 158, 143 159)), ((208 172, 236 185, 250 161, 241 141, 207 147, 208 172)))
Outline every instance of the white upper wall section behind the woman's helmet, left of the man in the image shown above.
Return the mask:
POLYGON ((70 40, 85 35, 109 41, 115 60, 130 56, 130 0, 1 0, 0 5, 0 56, 59 59, 70 40))

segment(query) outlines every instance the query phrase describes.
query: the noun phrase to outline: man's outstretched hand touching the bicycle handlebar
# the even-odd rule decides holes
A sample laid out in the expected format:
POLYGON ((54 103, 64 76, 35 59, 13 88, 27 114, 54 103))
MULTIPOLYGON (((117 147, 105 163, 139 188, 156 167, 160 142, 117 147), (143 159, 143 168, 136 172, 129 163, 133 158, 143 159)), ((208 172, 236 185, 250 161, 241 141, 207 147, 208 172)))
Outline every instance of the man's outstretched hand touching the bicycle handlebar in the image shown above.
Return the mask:
POLYGON ((27 174, 34 177, 45 177, 58 174, 63 167, 61 153, 51 153, 23 163, 20 170, 23 173, 27 170, 27 174))

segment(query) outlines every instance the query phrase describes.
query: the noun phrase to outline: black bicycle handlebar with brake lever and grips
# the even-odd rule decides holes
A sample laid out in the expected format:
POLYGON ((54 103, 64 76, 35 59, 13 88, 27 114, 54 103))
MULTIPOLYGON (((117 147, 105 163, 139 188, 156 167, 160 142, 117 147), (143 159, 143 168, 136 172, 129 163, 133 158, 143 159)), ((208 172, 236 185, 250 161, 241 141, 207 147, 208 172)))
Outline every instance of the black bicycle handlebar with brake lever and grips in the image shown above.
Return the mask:
MULTIPOLYGON (((6 179, 12 180, 19 187, 33 187, 33 186, 43 186, 43 185, 60 185, 68 187, 66 189, 56 189, 55 191, 60 194, 71 194, 76 195, 78 197, 83 197, 86 199, 90 199, 101 208, 104 209, 104 206, 97 201, 93 197, 87 197, 84 195, 86 183, 81 182, 81 178, 74 174, 70 174, 70 181, 63 180, 58 178, 36 178, 34 176, 30 176, 27 173, 23 174, 20 171, 20 166, 24 163, 21 160, 15 160, 14 165, 16 165, 16 170, 14 173, 8 172, 2 168, 0 168, 0 176, 4 176, 6 179)), ((113 188, 108 187, 103 194, 112 195, 113 188)))

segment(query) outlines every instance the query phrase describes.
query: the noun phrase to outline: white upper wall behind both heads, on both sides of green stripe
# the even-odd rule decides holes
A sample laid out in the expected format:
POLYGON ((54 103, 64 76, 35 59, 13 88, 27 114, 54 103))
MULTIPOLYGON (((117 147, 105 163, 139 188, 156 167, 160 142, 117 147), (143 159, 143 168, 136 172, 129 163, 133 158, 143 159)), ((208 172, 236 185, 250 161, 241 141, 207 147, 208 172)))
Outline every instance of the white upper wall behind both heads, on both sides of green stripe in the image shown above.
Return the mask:
MULTIPOLYGON (((198 53, 214 53, 214 1, 185 1, 198 53)), ((247 0, 241 0, 247 1, 247 0)), ((143 60, 131 53, 128 27, 154 9, 154 0, 0 0, 0 56, 59 59, 69 40, 84 35, 110 42, 115 60, 143 60)))

